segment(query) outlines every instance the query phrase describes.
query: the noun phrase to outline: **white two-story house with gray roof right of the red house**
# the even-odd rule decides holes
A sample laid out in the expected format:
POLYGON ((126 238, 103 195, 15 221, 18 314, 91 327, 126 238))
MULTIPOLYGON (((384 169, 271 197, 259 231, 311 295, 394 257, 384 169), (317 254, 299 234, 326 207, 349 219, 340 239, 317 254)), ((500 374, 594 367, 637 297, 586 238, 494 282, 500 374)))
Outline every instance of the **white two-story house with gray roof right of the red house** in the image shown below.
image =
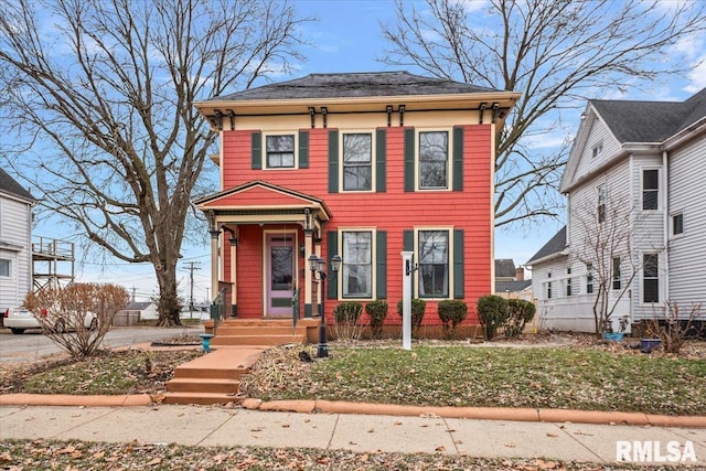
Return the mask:
POLYGON ((706 88, 686 101, 589 100, 581 118, 560 185, 568 223, 527 261, 541 327, 593 331, 601 261, 587 253, 606 228, 624 236, 605 260, 613 325, 666 301, 706 309, 706 88))

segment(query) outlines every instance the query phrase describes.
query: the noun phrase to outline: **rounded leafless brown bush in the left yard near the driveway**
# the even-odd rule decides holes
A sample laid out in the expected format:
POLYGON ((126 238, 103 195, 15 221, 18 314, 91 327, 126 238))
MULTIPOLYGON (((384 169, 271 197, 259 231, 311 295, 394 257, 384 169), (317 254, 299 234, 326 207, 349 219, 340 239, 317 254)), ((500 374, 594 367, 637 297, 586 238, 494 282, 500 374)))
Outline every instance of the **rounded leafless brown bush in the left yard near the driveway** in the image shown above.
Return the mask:
POLYGON ((47 338, 73 358, 82 358, 98 350, 128 300, 127 290, 116 285, 72 283, 31 292, 24 306, 47 338))

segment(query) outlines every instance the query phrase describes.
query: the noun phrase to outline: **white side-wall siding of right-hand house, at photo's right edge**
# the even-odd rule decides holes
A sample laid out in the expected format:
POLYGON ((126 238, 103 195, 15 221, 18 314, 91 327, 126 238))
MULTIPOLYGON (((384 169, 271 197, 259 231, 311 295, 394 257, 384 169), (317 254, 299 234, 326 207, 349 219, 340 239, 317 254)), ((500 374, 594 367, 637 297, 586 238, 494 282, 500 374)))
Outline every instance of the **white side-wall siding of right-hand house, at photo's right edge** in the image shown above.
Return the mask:
POLYGON ((682 308, 706 310, 706 136, 670 154, 670 213, 684 214, 684 234, 670 239, 670 293, 682 308))

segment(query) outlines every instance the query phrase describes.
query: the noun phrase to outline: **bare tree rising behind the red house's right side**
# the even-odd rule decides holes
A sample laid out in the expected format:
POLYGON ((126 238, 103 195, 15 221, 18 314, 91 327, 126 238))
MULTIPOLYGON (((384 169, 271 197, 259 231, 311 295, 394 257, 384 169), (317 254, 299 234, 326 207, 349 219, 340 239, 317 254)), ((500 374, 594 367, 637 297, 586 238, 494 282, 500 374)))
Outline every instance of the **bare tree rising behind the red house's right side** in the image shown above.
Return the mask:
POLYGON ((689 61, 671 46, 706 28, 706 3, 697 1, 396 1, 396 22, 382 26, 391 44, 384 62, 522 93, 495 138, 496 226, 557 215, 569 142, 546 153, 538 146, 552 132, 563 138, 555 111, 684 74, 689 61))

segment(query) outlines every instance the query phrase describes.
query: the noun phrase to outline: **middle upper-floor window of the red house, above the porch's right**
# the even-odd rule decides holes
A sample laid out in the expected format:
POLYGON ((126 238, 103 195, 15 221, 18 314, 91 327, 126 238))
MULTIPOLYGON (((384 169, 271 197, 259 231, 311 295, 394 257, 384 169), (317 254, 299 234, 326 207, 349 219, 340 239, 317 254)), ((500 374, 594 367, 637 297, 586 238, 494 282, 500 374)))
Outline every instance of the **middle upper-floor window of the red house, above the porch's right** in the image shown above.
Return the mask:
POLYGON ((373 135, 343 135, 343 190, 373 189, 373 135))

